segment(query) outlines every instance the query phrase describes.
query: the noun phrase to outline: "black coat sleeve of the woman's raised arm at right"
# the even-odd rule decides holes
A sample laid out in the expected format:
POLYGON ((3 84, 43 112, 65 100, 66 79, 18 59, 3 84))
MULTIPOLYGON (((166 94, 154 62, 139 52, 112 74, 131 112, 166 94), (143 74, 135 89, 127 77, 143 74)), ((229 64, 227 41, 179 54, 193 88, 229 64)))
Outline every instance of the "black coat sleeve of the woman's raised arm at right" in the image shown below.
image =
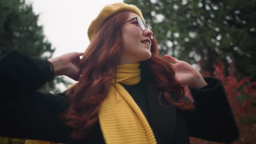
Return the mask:
POLYGON ((206 87, 190 88, 195 110, 185 111, 189 136, 224 143, 238 139, 238 128, 222 83, 213 77, 205 80, 206 87))

